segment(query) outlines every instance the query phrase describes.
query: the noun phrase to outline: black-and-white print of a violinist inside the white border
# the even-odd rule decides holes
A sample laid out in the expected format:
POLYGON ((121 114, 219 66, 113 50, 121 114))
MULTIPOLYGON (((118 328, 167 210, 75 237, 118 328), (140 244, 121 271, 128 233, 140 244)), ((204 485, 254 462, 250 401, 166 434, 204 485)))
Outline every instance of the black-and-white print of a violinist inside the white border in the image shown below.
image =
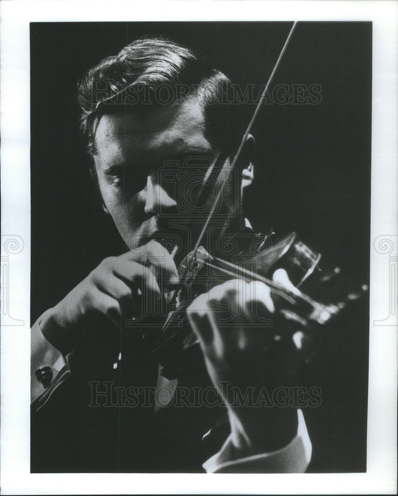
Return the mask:
POLYGON ((372 19, 122 19, 28 25, 28 473, 365 476, 372 19))

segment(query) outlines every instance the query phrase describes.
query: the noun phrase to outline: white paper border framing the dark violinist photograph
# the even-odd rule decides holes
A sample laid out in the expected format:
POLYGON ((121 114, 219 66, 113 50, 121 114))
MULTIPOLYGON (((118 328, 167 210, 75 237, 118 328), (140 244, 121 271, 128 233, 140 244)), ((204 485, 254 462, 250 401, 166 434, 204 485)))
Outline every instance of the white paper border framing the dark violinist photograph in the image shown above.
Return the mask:
POLYGON ((1 318, 4 324, 5 302, 9 315, 19 321, 13 326, 1 326, 2 494, 396 494, 397 315, 392 298, 397 298, 394 287, 398 273, 398 3, 175 0, 138 4, 119 0, 4 0, 0 8, 2 282, 8 270, 7 253, 13 250, 17 260, 10 264, 8 288, 1 285, 1 318), (373 22, 367 473, 30 474, 29 23, 126 19, 373 22), (8 251, 3 246, 6 237, 14 240, 8 242, 8 251), (391 282, 392 277, 396 278, 395 282, 391 282), (391 301, 393 307, 389 308, 391 301))

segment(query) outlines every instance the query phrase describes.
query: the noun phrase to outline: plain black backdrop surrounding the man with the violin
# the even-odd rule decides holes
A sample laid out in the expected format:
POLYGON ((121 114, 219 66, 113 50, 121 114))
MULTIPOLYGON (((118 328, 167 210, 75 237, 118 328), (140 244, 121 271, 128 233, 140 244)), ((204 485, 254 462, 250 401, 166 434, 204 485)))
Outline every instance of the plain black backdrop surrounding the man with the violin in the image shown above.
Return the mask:
MULTIPOLYGON (((199 49, 233 82, 256 84, 258 93, 290 27, 287 22, 31 24, 32 323, 105 256, 123 251, 80 145, 77 80, 137 37, 163 34, 199 49)), ((298 24, 272 85, 319 84, 322 102, 264 106, 253 128, 256 183, 245 204, 255 229, 298 232, 360 282, 369 277, 371 60, 371 23, 298 24)), ((249 119, 254 106, 246 112, 249 119)), ((356 330, 342 345, 342 367, 331 360, 320 379, 327 381, 331 373, 343 378, 345 406, 331 401, 324 414, 317 413, 321 420, 312 435, 323 437, 330 453, 329 458, 318 453, 314 470, 364 470, 367 311, 351 322, 356 330), (331 412, 348 423, 331 425, 331 412), (341 441, 333 451, 336 436, 341 441)), ((337 353, 338 343, 334 347, 337 353)), ((337 381, 328 384, 341 388, 337 381)))

